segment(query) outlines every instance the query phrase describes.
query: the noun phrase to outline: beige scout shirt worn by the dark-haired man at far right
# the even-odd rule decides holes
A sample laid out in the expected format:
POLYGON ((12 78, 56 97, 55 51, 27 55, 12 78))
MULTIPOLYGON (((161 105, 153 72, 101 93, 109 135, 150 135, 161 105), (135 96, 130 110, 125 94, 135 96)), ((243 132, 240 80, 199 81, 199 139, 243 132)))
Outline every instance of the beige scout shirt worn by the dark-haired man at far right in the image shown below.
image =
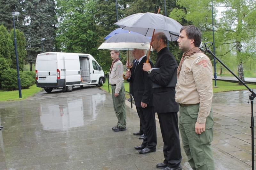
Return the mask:
POLYGON ((212 63, 203 53, 185 57, 177 76, 175 101, 199 104, 198 123, 205 123, 212 106, 212 63))

